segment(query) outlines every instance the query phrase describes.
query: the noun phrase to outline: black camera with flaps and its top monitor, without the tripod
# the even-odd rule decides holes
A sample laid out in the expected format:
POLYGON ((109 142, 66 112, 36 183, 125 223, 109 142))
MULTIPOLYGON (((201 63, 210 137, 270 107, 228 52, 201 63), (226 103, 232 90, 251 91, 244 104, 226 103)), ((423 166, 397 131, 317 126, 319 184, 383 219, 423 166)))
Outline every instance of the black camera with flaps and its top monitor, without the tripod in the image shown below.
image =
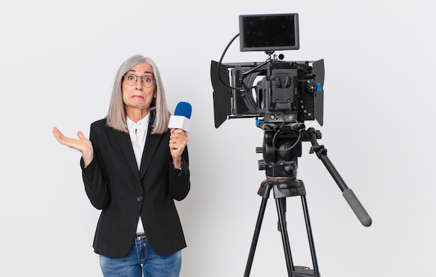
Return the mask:
POLYGON ((299 49, 298 15, 240 15, 240 50, 265 51, 265 62, 212 61, 215 127, 226 119, 323 123, 324 61, 283 61, 276 50, 299 49), (271 57, 271 55, 273 57, 271 57))

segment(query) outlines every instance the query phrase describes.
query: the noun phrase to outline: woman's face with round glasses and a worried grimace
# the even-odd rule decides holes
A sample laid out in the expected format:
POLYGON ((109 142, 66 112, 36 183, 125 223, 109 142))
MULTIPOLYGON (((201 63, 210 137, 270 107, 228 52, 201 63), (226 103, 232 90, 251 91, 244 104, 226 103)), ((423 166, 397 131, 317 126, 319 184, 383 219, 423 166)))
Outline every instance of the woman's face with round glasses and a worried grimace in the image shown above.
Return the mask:
POLYGON ((157 91, 153 68, 148 63, 132 67, 125 73, 121 89, 127 116, 131 112, 148 113, 157 91))

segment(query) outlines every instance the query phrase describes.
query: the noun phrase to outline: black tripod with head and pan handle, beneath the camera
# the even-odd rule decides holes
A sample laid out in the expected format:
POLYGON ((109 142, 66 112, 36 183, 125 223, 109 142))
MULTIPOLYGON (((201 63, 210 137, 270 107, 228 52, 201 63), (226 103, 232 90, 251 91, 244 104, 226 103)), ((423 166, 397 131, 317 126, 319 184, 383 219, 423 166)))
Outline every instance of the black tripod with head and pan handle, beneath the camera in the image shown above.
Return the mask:
MULTIPOLYGON (((277 134, 274 135, 272 131, 265 131, 265 139, 262 149, 265 160, 259 161, 259 170, 266 170, 267 179, 260 184, 260 188, 258 189, 258 195, 262 197, 262 202, 260 203, 260 210, 256 221, 253 240, 251 241, 251 248, 244 277, 249 277, 251 271, 251 265, 253 264, 254 253, 256 251, 256 245, 260 234, 260 227, 262 225, 267 200, 270 197, 271 190, 273 191, 277 206, 279 231, 281 232, 281 240, 283 242, 288 277, 320 277, 309 211, 306 202, 306 189, 304 188, 303 181, 296 178, 297 157, 301 156, 301 141, 311 141, 312 147, 310 153, 316 153, 318 158, 322 160, 322 163, 327 167, 327 170, 336 181, 336 184, 338 184, 339 188, 343 191, 345 200, 350 204, 350 207, 359 218, 361 224, 366 227, 371 225, 371 218, 366 213, 364 207, 360 204, 359 200, 357 200, 355 194, 352 193, 352 190, 350 190, 350 188, 345 184, 327 157, 327 149, 318 144, 317 139, 320 137, 320 132, 313 128, 309 128, 307 131, 299 130, 298 136, 295 135, 295 132, 292 130, 282 133, 279 137, 277 137, 277 134), (274 145, 274 141, 277 142, 277 144, 274 145), (276 145, 280 145, 281 148, 277 149, 276 145), (289 147, 289 145, 292 145, 292 147, 289 147), (296 267, 293 264, 286 226, 286 198, 293 196, 299 196, 302 200, 313 269, 310 269, 309 267, 296 267)), ((259 153, 260 149, 258 149, 257 152, 259 153)))

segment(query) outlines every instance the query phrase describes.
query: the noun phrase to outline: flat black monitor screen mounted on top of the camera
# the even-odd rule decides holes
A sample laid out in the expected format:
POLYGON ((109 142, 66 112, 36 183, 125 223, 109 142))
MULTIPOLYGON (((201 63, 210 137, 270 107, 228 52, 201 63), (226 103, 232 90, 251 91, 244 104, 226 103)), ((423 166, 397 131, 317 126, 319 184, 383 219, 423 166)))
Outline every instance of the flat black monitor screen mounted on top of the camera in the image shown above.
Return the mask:
POLYGON ((298 14, 240 15, 240 51, 299 49, 298 14))

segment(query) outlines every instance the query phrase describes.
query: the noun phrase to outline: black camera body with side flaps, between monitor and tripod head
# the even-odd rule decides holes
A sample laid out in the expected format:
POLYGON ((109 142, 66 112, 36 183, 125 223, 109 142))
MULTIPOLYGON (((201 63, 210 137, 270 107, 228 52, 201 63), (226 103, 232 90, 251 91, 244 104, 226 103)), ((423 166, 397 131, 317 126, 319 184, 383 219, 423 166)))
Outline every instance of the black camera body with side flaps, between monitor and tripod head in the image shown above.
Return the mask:
POLYGON ((226 119, 247 117, 261 118, 266 123, 316 120, 323 124, 322 59, 265 64, 212 61, 211 75, 216 128, 226 119))

